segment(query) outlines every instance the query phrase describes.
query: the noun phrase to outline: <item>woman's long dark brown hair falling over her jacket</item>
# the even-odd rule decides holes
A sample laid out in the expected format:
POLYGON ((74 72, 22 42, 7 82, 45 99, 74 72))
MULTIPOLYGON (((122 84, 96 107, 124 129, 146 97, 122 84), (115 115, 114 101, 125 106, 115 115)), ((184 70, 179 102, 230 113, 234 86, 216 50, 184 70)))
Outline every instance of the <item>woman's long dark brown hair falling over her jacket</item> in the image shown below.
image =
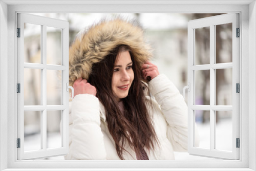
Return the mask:
MULTIPOLYGON (((154 148, 157 142, 156 133, 147 110, 147 101, 144 94, 146 84, 142 82, 141 66, 136 61, 129 46, 119 45, 105 58, 92 66, 88 82, 97 89, 97 97, 104 105, 108 129, 112 135, 116 151, 123 159, 125 140, 139 153, 141 147, 154 148), (120 99, 123 102, 124 113, 118 107, 118 101, 112 91, 112 75, 118 54, 129 51, 133 62, 134 80, 128 96, 120 99)), ((126 151, 127 152, 127 151, 126 151)))

